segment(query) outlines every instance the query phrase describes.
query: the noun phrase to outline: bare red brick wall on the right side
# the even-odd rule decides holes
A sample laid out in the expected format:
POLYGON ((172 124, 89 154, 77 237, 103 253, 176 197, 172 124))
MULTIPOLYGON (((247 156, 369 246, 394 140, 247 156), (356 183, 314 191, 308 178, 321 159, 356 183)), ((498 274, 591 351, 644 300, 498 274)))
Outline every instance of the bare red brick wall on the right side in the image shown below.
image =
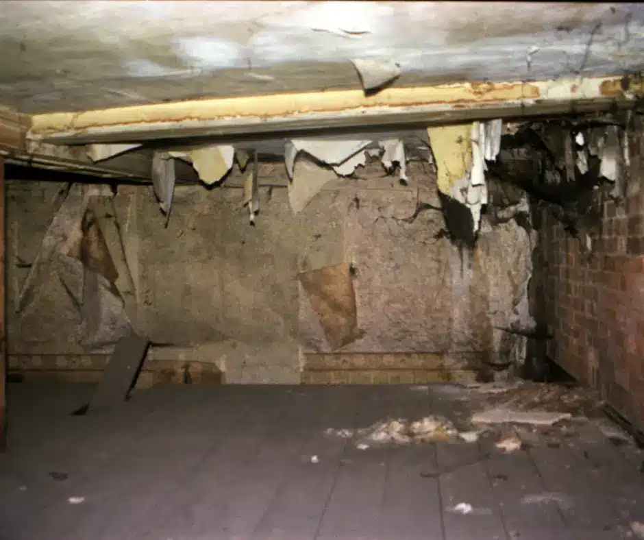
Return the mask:
MULTIPOLYGON (((644 140, 644 139, 643 139, 644 140)), ((533 300, 554 339, 547 355, 608 404, 644 426, 644 171, 643 140, 631 143, 626 197, 598 191, 601 225, 592 254, 544 215, 536 249, 533 300)))

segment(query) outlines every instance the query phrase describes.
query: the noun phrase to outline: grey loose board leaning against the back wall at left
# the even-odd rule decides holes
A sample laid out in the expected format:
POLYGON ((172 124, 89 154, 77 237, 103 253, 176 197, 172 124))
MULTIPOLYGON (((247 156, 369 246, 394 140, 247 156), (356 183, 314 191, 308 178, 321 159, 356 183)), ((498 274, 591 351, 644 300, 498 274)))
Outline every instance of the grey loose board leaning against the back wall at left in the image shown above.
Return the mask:
POLYGON ((137 334, 119 339, 88 410, 115 406, 127 400, 145 360, 148 346, 147 338, 137 334))

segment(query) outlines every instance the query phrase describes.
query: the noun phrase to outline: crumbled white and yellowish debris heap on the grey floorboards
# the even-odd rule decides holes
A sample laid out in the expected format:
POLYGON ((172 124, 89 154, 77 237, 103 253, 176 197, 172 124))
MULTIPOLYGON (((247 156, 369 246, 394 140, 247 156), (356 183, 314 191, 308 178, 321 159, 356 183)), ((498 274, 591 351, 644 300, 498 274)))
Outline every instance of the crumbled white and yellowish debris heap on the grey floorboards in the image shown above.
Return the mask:
POLYGON ((359 446, 365 443, 375 444, 408 444, 425 441, 444 441, 458 437, 458 430, 451 421, 444 417, 427 416, 420 420, 407 419, 381 420, 359 430, 333 429, 326 430, 327 435, 343 439, 358 439, 359 446))

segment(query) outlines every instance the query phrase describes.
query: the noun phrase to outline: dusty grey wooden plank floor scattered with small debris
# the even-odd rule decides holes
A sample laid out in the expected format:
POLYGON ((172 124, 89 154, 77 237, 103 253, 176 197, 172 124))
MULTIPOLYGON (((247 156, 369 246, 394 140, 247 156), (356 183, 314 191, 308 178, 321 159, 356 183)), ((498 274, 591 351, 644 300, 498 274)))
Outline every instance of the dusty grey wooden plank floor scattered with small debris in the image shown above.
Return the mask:
POLYGON ((360 450, 337 434, 427 415, 468 431, 486 406, 559 410, 573 396, 484 390, 156 387, 71 416, 90 387, 12 385, 0 539, 636 538, 644 456, 587 396, 552 428, 495 426, 475 442, 360 450), (519 450, 496 447, 517 437, 519 450))

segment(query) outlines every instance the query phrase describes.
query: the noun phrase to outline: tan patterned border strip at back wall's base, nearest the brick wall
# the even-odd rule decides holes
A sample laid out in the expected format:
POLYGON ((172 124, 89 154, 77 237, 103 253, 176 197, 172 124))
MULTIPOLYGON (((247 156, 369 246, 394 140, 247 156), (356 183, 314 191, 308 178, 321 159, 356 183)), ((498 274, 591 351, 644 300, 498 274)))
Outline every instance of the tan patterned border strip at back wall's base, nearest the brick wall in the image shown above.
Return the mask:
POLYGON ((425 384, 474 382, 481 373, 480 355, 306 354, 303 384, 425 384))

